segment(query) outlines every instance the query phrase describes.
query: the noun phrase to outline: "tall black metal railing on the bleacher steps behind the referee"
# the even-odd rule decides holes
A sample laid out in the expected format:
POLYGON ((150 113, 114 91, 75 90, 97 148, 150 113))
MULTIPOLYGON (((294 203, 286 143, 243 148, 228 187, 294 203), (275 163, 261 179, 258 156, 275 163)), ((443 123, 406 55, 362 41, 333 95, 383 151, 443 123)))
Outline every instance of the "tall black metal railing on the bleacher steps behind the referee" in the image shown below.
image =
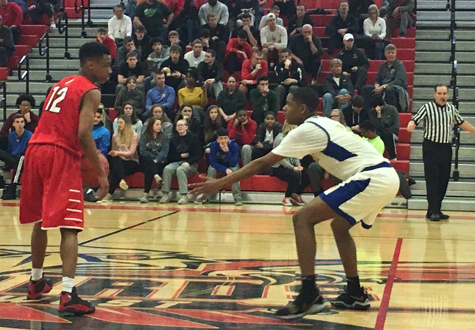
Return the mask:
MULTIPOLYGON (((447 0, 447 10, 450 10, 450 62, 452 63, 452 77, 450 79, 450 88, 452 88, 452 104, 458 110, 458 86, 457 86, 457 60, 456 60, 456 46, 455 46, 455 30, 457 23, 455 20, 455 0, 447 0)), ((458 125, 454 126, 454 136, 452 139, 452 145, 455 147, 455 159, 454 159, 454 181, 458 181, 460 172, 458 170, 458 151, 460 149, 460 128, 458 125)))

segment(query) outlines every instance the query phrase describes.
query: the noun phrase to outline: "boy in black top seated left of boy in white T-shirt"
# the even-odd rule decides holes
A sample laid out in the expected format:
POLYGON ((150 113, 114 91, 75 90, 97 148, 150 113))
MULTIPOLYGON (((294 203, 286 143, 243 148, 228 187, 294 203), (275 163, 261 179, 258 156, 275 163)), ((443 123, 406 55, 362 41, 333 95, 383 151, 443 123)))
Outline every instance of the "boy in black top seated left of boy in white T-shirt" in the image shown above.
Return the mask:
MULTIPOLYGON (((189 68, 190 64, 181 57, 181 47, 177 45, 170 47, 170 57, 163 61, 160 66, 160 70, 166 74, 165 83, 173 88, 175 92, 185 85, 185 74, 189 68)), ((155 81, 152 83, 155 83, 155 81)))

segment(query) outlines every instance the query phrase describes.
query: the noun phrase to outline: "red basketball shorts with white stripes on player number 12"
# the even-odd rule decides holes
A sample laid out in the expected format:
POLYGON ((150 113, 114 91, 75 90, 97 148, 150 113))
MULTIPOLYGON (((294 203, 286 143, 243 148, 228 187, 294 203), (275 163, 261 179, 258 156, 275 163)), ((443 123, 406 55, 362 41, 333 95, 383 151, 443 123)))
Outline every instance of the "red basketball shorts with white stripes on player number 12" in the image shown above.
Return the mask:
POLYGON ((84 227, 81 160, 61 147, 31 145, 21 177, 20 223, 41 229, 84 227))

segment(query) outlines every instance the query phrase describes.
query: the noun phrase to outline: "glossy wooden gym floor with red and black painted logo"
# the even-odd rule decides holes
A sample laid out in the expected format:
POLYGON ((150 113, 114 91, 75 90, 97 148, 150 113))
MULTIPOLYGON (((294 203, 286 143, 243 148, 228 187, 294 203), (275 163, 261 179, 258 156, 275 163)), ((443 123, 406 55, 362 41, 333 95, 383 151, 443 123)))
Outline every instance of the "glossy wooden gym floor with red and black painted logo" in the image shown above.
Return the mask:
MULTIPOLYGON (((364 207, 362 205, 362 207, 364 207)), ((45 273, 55 286, 26 300, 30 226, 0 203, 0 329, 473 329, 475 213, 433 223, 422 211, 386 209, 357 225, 366 312, 335 310, 288 322, 273 311, 299 289, 293 207, 114 202, 87 204, 79 234, 78 293, 89 316, 57 312, 59 232, 49 232, 45 273), (296 280, 297 279, 297 280, 296 280)), ((329 222, 316 228, 318 284, 331 299, 346 280, 329 222)))

